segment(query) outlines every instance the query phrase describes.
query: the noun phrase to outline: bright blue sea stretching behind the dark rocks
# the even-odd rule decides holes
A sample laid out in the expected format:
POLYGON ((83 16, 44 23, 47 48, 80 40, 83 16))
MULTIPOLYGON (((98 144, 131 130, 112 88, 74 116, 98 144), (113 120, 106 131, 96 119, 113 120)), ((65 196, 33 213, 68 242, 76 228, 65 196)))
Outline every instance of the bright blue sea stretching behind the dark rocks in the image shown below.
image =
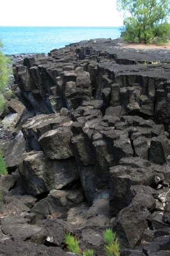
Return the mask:
POLYGON ((5 54, 44 52, 94 38, 120 37, 122 27, 0 27, 5 54))

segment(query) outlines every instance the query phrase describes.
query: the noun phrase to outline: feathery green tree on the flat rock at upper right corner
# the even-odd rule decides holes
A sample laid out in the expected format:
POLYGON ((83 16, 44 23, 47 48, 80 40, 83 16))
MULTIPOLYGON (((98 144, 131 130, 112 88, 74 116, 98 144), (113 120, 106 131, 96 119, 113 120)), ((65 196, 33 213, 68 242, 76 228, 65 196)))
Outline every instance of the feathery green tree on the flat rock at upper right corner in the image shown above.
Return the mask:
POLYGON ((169 0, 117 0, 117 9, 124 12, 123 38, 127 42, 167 42, 169 0))

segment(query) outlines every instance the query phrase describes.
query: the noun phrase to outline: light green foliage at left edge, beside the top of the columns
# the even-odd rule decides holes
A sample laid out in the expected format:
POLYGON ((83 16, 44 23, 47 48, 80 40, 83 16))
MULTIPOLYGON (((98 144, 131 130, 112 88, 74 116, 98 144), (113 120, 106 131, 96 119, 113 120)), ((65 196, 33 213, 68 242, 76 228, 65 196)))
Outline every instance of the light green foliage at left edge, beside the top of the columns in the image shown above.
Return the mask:
POLYGON ((3 49, 4 45, 0 39, 0 111, 4 108, 5 105, 2 93, 8 84, 8 74, 10 73, 10 68, 8 67, 10 58, 4 55, 3 49))

